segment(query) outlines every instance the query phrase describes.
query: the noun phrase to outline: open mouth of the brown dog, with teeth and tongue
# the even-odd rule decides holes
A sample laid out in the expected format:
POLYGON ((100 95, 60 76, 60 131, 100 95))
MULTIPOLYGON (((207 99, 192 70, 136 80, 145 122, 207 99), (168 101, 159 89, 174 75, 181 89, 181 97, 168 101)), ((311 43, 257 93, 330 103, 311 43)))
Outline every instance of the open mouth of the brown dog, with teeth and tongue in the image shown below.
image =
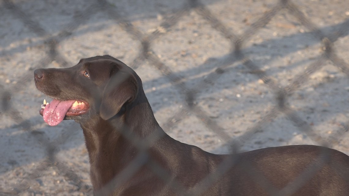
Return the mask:
POLYGON ((44 121, 50 126, 56 126, 62 122, 66 116, 77 116, 88 111, 89 105, 83 101, 78 100, 57 100, 52 99, 50 103, 41 105, 40 115, 43 116, 44 121))

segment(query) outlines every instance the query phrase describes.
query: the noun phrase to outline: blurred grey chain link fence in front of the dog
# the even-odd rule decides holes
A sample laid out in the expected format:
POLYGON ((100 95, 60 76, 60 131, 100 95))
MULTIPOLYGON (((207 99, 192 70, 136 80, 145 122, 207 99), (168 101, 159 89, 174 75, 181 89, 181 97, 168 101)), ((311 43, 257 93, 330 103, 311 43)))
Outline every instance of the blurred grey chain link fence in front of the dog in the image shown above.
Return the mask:
MULTIPOLYGON (((332 147, 333 145, 338 144, 340 138, 347 137, 346 132, 349 128, 349 121, 342 125, 338 130, 333 131, 331 137, 324 137, 319 134, 317 130, 314 130, 310 123, 303 119, 302 116, 300 116, 299 113, 290 106, 288 100, 296 91, 309 82, 309 78, 312 74, 328 65, 328 63, 332 63, 332 65, 334 65, 338 70, 346 76, 349 76, 347 57, 338 55, 335 50, 337 40, 348 35, 349 19, 339 23, 335 30, 324 32, 324 30, 319 28, 317 24, 313 23, 311 18, 306 16, 304 12, 301 11, 300 7, 298 7, 293 1, 279 0, 275 1, 273 5, 270 6, 270 8, 268 8, 268 10, 259 17, 258 20, 251 23, 246 30, 242 33, 236 33, 228 25, 219 20, 200 0, 187 0, 179 9, 173 10, 171 14, 161 18, 161 23, 157 28, 151 32, 145 33, 133 25, 132 21, 130 21, 127 16, 120 14, 122 12, 120 12, 121 10, 118 10, 118 6, 114 6, 106 0, 96 0, 83 10, 79 10, 77 14, 74 15, 74 18, 65 26, 64 30, 56 35, 51 35, 51 33, 48 32, 39 21, 28 15, 26 10, 23 10, 17 3, 11 0, 3 0, 1 6, 2 9, 9 10, 13 17, 20 20, 22 24, 30 30, 30 32, 34 33, 37 37, 44 39, 44 45, 48 49, 45 49, 45 55, 39 62, 37 62, 37 67, 33 69, 45 68, 53 61, 57 62, 61 68, 72 66, 70 60, 67 60, 64 55, 60 53, 60 42, 71 36, 73 32, 77 31, 81 24, 84 24, 84 22, 89 20, 91 15, 103 13, 109 18, 112 18, 115 25, 121 27, 122 30, 132 37, 134 42, 138 42, 141 45, 138 50, 138 55, 129 66, 137 71, 138 67, 142 65, 144 61, 148 62, 149 65, 152 65, 161 71, 162 76, 166 77, 171 85, 178 90, 181 96, 183 96, 184 107, 181 107, 181 109, 174 113, 168 121, 163 123, 164 126, 162 127, 165 131, 175 126, 176 123, 182 121, 188 115, 195 115, 198 119, 202 120, 205 126, 209 128, 212 133, 217 135, 223 143, 231 146, 231 153, 236 153, 241 151, 240 148, 244 141, 248 141, 253 135, 258 133, 263 126, 283 115, 288 121, 292 122, 294 126, 298 127, 298 130, 302 131, 302 133, 310 137, 319 145, 332 147), (318 43, 320 43, 321 52, 302 73, 295 75, 287 85, 282 85, 272 75, 268 74, 265 69, 258 66, 254 60, 249 58, 249 55, 244 51, 244 45, 246 45, 251 37, 255 36, 260 29, 265 28, 277 14, 285 11, 292 15, 295 22, 302 25, 302 27, 305 28, 306 31, 318 41, 318 43), (214 61, 214 71, 209 73, 203 80, 201 80, 201 82, 197 82, 194 86, 188 87, 185 82, 186 78, 176 74, 170 66, 166 65, 166 63, 163 62, 163 60, 159 58, 159 55, 153 50, 153 45, 155 40, 161 39, 162 36, 170 32, 184 16, 192 12, 201 16, 211 26, 212 31, 220 32, 226 42, 229 43, 230 49, 229 53, 225 55, 223 60, 214 61), (268 90, 274 95, 274 106, 267 111, 259 121, 254 122, 253 126, 248 128, 238 137, 232 137, 229 131, 220 125, 218 120, 211 118, 205 110, 196 104, 198 94, 203 90, 210 88, 210 83, 215 83, 222 75, 227 74, 227 69, 234 63, 242 63, 244 68, 247 69, 248 74, 255 75, 254 77, 258 78, 260 83, 267 86, 268 90)), ((122 37, 120 37, 120 39, 122 39, 122 37)), ((74 194, 80 193, 80 195, 93 195, 90 184, 86 182, 86 180, 83 180, 79 173, 75 172, 74 167, 60 161, 56 156, 59 152, 59 145, 64 144, 69 137, 72 137, 72 135, 75 134, 75 132, 66 131, 54 141, 48 140, 45 135, 37 131, 37 126, 35 124, 23 116, 21 111, 18 111, 13 107, 15 103, 13 103, 11 98, 16 96, 16 94, 21 90, 24 90, 26 88, 25 84, 32 82, 32 74, 25 74, 21 76, 15 84, 10 85, 10 87, 7 85, 1 85, 0 114, 2 118, 7 116, 7 118, 15 121, 15 126, 17 128, 24 129, 34 136, 31 138, 36 140, 42 148, 45 149, 46 158, 41 160, 40 163, 31 171, 31 174, 26 178, 19 180, 15 184, 8 184, 8 186, 2 187, 0 195, 58 194, 58 191, 55 192, 54 187, 52 187, 52 193, 44 193, 32 188, 32 183, 37 181, 41 176, 46 175, 45 171, 50 167, 57 169, 57 171, 72 182, 76 191, 74 194)), ((147 149, 159 138, 158 135, 150 135, 146 139, 140 140, 140 138, 132 135, 131 132, 127 130, 122 134, 139 150, 138 156, 134 158, 131 164, 128 165, 124 171, 115 176, 115 178, 105 188, 100 190, 97 195, 108 195, 116 190, 120 185, 122 185, 122 182, 126 181, 143 165, 147 165, 151 168, 159 178, 166 182, 166 186, 176 190, 178 195, 200 195, 211 184, 215 183, 215 179, 228 171, 236 161, 231 159, 224 160, 217 171, 208 174, 206 178, 196 184, 192 189, 187 190, 182 184, 173 180, 172 176, 155 160, 152 160, 151 158, 149 160, 147 159, 147 149)), ((322 165, 326 164, 327 161, 328 155, 326 153, 322 154, 317 161, 314 161, 314 164, 304 170, 304 173, 302 173, 299 178, 280 190, 273 187, 262 175, 251 175, 251 180, 259 183, 270 195, 291 195, 297 189, 302 187, 302 185, 306 183, 322 165)), ((256 168, 248 163, 246 163, 245 169, 247 173, 251 172, 254 174, 260 174, 256 168)), ((349 178, 349 176, 346 176, 346 178, 349 178)), ((349 179, 347 180, 349 181, 349 179)), ((69 192, 65 192, 64 190, 59 192, 59 194, 62 195, 69 195, 69 192)))

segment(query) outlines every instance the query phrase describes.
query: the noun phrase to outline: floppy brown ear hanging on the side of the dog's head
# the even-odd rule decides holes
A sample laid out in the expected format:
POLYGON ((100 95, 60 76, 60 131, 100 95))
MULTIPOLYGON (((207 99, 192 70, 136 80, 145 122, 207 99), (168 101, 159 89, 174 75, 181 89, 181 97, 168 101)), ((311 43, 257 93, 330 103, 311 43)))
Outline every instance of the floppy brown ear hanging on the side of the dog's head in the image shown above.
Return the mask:
POLYGON ((103 120, 108 120, 116 115, 122 105, 131 102, 137 93, 136 78, 125 71, 118 71, 113 74, 106 84, 102 103, 99 107, 99 114, 103 120))

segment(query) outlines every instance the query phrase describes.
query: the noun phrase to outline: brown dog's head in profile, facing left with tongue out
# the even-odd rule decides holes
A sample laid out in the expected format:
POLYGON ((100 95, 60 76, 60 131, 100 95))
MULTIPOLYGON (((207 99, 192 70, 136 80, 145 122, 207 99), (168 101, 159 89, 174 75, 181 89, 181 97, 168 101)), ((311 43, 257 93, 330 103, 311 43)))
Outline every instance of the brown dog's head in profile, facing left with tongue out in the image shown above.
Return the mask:
POLYGON ((53 98, 40 110, 50 126, 95 115, 108 120, 132 103, 141 88, 138 75, 109 55, 81 59, 66 69, 37 69, 34 78, 37 89, 53 98))

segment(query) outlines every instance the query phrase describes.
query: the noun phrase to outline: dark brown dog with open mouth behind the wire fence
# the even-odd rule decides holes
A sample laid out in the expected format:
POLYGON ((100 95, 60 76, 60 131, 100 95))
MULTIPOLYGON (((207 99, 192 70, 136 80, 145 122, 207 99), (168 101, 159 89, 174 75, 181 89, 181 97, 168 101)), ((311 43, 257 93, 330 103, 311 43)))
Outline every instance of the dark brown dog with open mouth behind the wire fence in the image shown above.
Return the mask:
POLYGON ((333 149, 216 155, 172 139, 155 120, 139 76, 109 55, 34 75, 53 98, 40 110, 44 121, 80 123, 95 195, 349 195, 349 157, 333 149))

